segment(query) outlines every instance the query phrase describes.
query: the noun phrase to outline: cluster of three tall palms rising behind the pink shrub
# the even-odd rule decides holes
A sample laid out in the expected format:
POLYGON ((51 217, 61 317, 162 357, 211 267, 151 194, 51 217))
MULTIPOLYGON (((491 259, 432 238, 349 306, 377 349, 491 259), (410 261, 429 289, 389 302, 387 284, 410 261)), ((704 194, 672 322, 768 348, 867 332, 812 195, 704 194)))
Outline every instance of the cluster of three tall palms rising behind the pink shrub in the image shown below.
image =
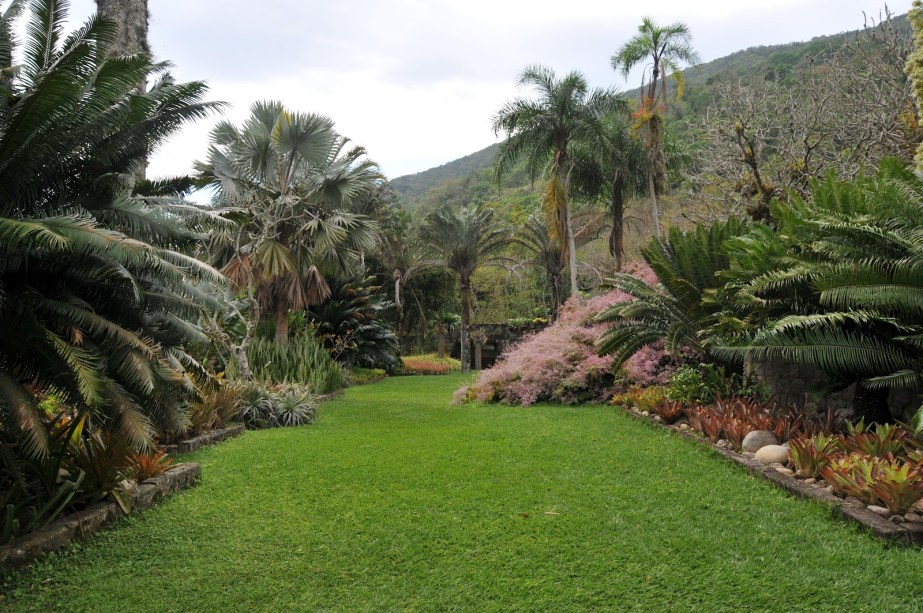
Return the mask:
MULTIPOLYGON (((680 62, 698 56, 683 24, 660 27, 645 18, 639 33, 612 56, 612 66, 625 76, 649 59, 647 98, 631 114, 628 102, 614 89, 591 89, 579 72, 558 78, 554 71, 530 66, 519 83, 535 98, 508 102, 494 117, 494 131, 507 135, 497 153, 498 176, 525 159, 530 176, 547 173, 543 213, 557 257, 567 261, 570 295, 578 296, 577 239, 571 199, 604 201, 611 216, 609 250, 621 269, 624 261, 625 203, 647 191, 652 201, 654 234, 660 236, 657 196, 666 189, 663 114, 667 108, 666 79, 680 62), (643 142, 636 136, 643 128, 643 142)), ((645 70, 645 78, 648 72, 645 70)), ((550 254, 542 255, 545 257, 550 254)), ((546 268, 552 287, 563 266, 546 268)), ((554 310, 560 292, 555 292, 554 310)))

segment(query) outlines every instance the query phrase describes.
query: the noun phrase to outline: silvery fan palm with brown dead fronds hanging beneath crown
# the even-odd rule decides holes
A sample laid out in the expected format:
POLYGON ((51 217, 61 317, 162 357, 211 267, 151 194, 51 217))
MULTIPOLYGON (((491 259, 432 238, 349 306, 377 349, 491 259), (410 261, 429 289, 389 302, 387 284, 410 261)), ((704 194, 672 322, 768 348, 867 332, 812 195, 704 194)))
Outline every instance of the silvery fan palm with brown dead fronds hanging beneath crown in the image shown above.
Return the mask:
MULTIPOLYGON (((377 224, 344 209, 381 179, 365 150, 333 122, 257 102, 242 128, 219 123, 207 162, 196 163, 200 183, 240 209, 238 232, 216 235, 212 261, 259 312, 274 312, 276 340, 288 340, 288 313, 321 304, 327 274, 351 275, 377 240, 377 224)), ((259 319, 259 317, 257 317, 259 319)))

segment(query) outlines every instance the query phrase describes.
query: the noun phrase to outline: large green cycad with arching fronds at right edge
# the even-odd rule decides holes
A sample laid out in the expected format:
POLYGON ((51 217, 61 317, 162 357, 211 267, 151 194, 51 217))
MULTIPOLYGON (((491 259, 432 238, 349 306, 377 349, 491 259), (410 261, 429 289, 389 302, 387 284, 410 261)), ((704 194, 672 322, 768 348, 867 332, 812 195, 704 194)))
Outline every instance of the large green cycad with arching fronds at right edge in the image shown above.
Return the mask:
POLYGON ((857 410, 889 420, 889 389, 923 387, 923 180, 888 160, 873 177, 816 182, 773 215, 768 248, 765 231, 732 246, 736 308, 757 317, 717 353, 858 382, 857 410))

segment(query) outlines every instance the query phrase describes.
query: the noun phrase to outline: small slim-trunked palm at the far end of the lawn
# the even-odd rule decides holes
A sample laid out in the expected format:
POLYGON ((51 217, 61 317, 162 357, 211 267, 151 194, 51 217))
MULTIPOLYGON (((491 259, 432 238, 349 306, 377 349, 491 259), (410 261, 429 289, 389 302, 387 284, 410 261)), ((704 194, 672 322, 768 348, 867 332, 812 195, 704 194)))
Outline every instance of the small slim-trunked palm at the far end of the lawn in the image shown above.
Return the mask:
POLYGON ((474 301, 471 277, 492 261, 509 244, 509 232, 494 218, 493 209, 481 205, 462 209, 443 206, 426 216, 421 237, 440 257, 445 267, 458 275, 461 294, 461 362, 462 371, 471 370, 468 357, 468 323, 474 301))

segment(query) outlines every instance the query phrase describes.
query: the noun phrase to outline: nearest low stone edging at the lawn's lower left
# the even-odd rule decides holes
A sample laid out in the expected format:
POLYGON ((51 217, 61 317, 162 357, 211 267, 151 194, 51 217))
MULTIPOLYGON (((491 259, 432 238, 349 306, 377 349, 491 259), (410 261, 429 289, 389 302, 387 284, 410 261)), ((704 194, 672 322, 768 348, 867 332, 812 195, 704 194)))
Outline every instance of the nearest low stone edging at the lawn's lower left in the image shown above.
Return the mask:
MULTIPOLYGON (((198 464, 177 464, 158 477, 142 481, 131 495, 131 512, 148 509, 162 498, 193 485, 200 474, 198 464)), ((124 516, 125 512, 115 502, 100 502, 10 541, 0 546, 0 574, 9 574, 45 553, 99 532, 124 516)))

